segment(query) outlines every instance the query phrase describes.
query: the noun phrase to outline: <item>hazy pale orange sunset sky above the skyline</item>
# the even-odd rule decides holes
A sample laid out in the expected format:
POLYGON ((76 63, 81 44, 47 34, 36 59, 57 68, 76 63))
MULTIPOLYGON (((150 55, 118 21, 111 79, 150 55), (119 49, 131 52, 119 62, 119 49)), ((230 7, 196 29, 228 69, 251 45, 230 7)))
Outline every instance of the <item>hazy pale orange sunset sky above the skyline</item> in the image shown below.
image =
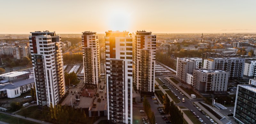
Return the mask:
POLYGON ((256 32, 256 0, 0 0, 0 33, 256 32))

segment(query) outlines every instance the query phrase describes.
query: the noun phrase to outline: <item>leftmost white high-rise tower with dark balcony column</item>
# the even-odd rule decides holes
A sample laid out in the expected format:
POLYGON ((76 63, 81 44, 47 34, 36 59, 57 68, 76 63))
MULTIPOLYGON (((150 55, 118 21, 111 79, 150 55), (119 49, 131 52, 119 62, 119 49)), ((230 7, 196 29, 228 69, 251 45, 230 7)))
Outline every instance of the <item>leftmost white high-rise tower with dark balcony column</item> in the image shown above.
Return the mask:
POLYGON ((30 32, 37 105, 57 105, 65 94, 61 38, 55 32, 30 32))

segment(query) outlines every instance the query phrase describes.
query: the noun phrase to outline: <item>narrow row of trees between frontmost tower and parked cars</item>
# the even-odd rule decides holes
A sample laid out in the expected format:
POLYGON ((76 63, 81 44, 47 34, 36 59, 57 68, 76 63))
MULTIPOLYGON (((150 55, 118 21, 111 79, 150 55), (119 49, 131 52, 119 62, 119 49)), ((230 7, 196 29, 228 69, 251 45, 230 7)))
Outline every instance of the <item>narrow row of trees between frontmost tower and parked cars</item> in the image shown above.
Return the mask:
POLYGON ((149 123, 150 124, 155 124, 156 123, 155 114, 151 110, 150 104, 149 104, 148 99, 146 98, 146 96, 144 97, 143 107, 144 107, 145 113, 148 116, 149 123))

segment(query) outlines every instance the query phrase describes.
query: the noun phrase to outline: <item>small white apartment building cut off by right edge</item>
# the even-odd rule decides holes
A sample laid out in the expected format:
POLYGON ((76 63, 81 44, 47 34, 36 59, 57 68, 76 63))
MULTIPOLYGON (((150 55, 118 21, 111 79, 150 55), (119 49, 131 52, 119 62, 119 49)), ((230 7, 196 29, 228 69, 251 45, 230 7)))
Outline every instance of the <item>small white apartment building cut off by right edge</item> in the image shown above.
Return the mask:
POLYGON ((244 75, 248 77, 256 76, 256 61, 245 61, 244 75))

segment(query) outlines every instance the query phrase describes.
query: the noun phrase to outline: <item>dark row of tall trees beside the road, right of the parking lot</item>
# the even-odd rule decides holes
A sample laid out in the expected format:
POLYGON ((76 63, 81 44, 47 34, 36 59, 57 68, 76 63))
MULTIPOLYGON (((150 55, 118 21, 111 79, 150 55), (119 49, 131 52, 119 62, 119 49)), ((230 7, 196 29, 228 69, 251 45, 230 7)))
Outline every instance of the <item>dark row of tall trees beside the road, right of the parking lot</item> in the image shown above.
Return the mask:
POLYGON ((164 110, 165 113, 170 114, 169 120, 171 120, 173 124, 184 124, 183 113, 174 105, 173 101, 170 102, 167 94, 164 95, 164 110))

